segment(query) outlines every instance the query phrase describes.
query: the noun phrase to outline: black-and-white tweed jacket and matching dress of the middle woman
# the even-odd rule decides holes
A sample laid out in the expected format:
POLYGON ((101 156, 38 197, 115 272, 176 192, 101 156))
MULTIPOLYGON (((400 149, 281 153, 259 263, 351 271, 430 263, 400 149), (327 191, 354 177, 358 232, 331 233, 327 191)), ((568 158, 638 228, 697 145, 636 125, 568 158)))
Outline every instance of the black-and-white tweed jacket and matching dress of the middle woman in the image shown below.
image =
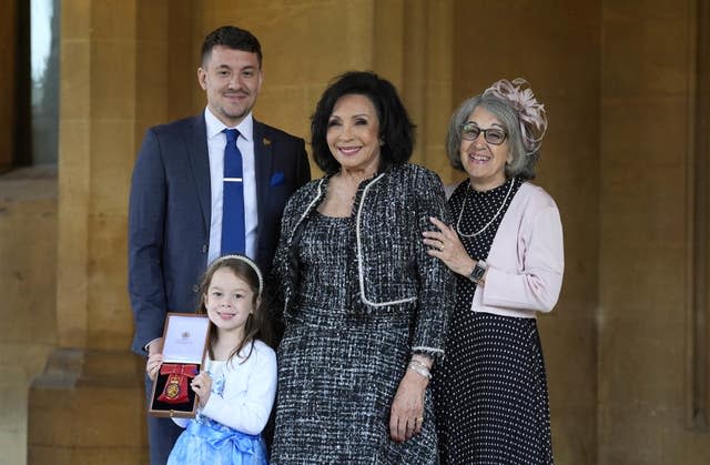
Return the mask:
POLYGON ((435 464, 432 393, 422 433, 389 437, 389 411, 414 353, 444 354, 454 280, 426 254, 429 216, 448 222, 442 183, 415 165, 364 181, 349 218, 317 212, 328 178, 283 216, 272 282, 282 297, 274 464, 435 464))

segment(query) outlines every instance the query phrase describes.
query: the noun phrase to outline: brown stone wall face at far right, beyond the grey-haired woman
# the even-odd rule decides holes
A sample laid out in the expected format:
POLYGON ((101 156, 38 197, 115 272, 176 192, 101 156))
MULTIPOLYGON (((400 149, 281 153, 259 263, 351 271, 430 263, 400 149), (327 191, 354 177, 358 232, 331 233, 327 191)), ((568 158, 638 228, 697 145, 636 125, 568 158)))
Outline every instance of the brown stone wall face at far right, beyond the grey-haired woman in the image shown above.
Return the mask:
MULTIPOLYGON (((707 17, 697 16, 702 3, 602 1, 598 447, 604 464, 710 461, 707 425, 693 427, 688 407, 689 328, 697 324, 689 312, 688 266, 696 254, 689 242, 693 110, 696 87, 707 89, 696 82, 699 27, 708 27, 707 17)), ((707 176, 699 182, 707 184, 707 176)))

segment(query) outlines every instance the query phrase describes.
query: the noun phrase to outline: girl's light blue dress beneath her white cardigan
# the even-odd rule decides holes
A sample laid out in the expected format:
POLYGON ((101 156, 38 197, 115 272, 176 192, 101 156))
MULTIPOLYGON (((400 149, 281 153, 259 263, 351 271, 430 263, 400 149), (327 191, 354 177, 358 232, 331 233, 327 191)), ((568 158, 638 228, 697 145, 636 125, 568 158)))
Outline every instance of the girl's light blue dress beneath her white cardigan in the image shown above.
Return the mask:
MULTIPOLYGON (((226 362, 207 361, 212 377, 212 396, 222 396, 233 372, 224 370, 226 362), (226 373, 226 374, 225 374, 226 373)), ((187 421, 185 431, 168 458, 168 465, 265 465, 266 445, 261 435, 251 435, 225 426, 202 413, 187 421)))

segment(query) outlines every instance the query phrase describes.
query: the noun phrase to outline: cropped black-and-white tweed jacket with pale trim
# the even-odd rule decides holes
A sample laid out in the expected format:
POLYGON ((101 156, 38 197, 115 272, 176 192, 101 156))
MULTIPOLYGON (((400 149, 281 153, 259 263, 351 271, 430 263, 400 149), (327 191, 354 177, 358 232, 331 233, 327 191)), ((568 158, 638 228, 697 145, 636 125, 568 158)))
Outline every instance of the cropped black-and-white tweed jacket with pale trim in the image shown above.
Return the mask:
MULTIPOLYGON (((290 199, 282 219, 281 242, 271 282, 286 324, 297 317, 297 244, 303 224, 325 199, 329 178, 312 181, 290 199)), ((361 183, 351 220, 352 265, 345 272, 353 285, 355 313, 410 314, 412 351, 438 357, 444 353, 448 314, 454 304, 454 277, 440 260, 429 256, 422 231, 430 216, 448 222, 444 188, 438 176, 416 164, 389 168, 361 183)))

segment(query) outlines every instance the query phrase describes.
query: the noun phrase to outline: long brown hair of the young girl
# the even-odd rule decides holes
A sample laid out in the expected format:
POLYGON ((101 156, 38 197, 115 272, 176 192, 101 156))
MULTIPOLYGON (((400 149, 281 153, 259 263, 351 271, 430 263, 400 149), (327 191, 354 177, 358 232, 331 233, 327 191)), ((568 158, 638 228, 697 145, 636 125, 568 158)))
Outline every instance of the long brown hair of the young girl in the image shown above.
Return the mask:
MULTIPOLYGON (((251 261, 250 261, 251 262, 251 261)), ((254 312, 248 315, 246 319, 246 323, 244 324, 244 338, 242 343, 234 347, 227 361, 231 361, 234 355, 239 354, 242 348, 246 347, 247 344, 251 345, 248 354, 244 357, 244 363, 246 358, 252 355, 252 351, 254 350, 253 342, 255 340, 262 340, 264 343, 272 345, 272 327, 267 320, 266 305, 267 302, 263 295, 261 279, 258 274, 256 274, 256 265, 253 262, 246 262, 243 257, 237 255, 227 255, 220 257, 212 262, 207 271, 204 273, 202 277, 202 282, 200 283, 200 306, 197 307, 197 312, 200 314, 207 314, 207 307, 204 304, 204 301, 207 295, 207 291, 210 290, 210 283, 212 282, 212 277, 217 270, 227 269, 235 276, 241 280, 244 280, 254 294, 254 299, 252 304, 254 305, 254 312), (261 297, 261 299, 260 299, 261 297)), ((217 340, 217 331, 216 326, 210 323, 209 331, 209 354, 211 358, 214 358, 214 354, 212 353, 212 346, 217 340)))

